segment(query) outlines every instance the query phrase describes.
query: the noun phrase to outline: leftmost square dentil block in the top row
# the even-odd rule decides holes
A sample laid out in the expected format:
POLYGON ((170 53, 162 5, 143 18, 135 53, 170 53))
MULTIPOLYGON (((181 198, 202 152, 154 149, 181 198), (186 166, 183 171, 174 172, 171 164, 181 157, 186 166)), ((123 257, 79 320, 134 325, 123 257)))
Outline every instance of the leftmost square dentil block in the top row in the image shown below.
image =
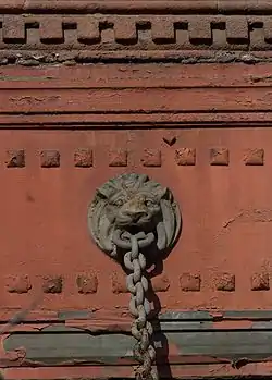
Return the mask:
POLYGON ((25 44, 25 22, 21 15, 4 15, 2 24, 3 41, 7 44, 25 44))

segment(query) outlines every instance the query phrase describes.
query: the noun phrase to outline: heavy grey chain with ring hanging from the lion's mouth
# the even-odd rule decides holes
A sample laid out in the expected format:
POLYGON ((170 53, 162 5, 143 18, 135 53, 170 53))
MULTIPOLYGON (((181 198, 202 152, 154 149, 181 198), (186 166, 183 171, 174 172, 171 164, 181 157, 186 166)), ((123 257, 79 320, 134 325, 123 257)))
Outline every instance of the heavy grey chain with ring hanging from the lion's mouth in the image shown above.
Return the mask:
POLYGON ((153 328, 148 321, 150 304, 146 297, 148 280, 145 275, 146 257, 139 248, 149 246, 154 240, 152 233, 140 232, 132 235, 128 232, 116 230, 113 234, 113 243, 123 249, 129 249, 124 255, 124 266, 132 271, 126 278, 126 286, 132 294, 129 311, 136 318, 132 326, 132 334, 137 340, 134 347, 134 356, 140 365, 136 369, 136 380, 158 380, 157 368, 152 368, 156 359, 156 350, 151 343, 153 328))

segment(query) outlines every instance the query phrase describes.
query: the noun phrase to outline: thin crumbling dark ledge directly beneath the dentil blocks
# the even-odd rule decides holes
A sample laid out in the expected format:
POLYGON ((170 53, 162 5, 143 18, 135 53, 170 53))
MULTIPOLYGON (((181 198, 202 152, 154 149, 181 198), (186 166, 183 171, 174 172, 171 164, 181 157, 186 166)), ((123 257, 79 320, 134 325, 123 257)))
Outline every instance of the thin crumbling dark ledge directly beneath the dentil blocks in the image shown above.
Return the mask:
POLYGON ((198 54, 183 51, 173 51, 163 53, 161 51, 122 51, 115 52, 42 52, 39 56, 34 51, 1 51, 0 66, 21 65, 28 68, 37 68, 42 65, 65 65, 75 66, 88 63, 180 63, 180 64, 207 64, 207 63, 246 63, 258 64, 263 62, 272 62, 272 58, 268 54, 259 54, 258 52, 235 52, 235 51, 209 51, 201 50, 198 54))

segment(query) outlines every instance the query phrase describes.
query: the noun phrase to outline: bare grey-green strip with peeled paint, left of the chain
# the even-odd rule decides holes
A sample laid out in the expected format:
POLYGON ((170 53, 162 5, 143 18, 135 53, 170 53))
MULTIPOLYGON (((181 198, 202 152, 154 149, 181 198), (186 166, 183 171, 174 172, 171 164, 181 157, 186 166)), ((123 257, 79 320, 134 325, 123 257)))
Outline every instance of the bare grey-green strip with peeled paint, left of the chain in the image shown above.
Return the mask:
POLYGON ((120 356, 132 356, 133 338, 124 334, 99 336, 74 328, 51 327, 41 333, 12 334, 4 341, 4 348, 26 350, 26 359, 54 365, 62 361, 91 361, 114 364, 120 356), (79 332, 78 332, 79 331, 79 332))

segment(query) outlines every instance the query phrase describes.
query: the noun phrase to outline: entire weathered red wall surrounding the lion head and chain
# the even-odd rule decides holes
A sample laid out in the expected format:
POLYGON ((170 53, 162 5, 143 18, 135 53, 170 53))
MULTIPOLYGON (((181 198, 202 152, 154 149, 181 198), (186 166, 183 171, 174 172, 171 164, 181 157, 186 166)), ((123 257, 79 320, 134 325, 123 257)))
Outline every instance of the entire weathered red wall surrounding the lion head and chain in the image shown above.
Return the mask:
POLYGON ((86 223, 131 171, 183 213, 151 273, 160 376, 271 376, 270 19, 251 0, 0 1, 1 327, 39 302, 1 336, 7 379, 134 376, 124 273, 86 223))

